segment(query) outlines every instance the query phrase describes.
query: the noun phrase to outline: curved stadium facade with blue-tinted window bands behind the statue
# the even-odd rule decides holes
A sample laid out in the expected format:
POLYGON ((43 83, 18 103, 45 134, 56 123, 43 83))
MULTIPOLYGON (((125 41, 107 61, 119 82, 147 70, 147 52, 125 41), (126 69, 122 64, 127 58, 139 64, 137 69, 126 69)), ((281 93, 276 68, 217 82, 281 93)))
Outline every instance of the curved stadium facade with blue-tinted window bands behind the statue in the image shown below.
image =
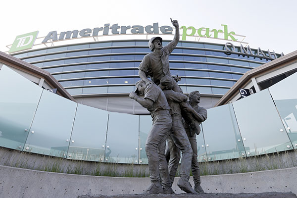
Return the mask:
MULTIPOLYGON (((163 41, 165 46, 169 41, 163 41)), ((198 90, 201 106, 213 107, 241 76, 273 58, 226 53, 222 44, 180 41, 169 57, 184 93, 198 90)), ((138 66, 148 40, 103 41, 30 50, 13 56, 49 71, 79 102, 107 111, 148 114, 128 97, 140 80, 138 66)), ((267 54, 267 52, 264 52, 267 54)), ((280 54, 276 54, 280 56, 280 54)))

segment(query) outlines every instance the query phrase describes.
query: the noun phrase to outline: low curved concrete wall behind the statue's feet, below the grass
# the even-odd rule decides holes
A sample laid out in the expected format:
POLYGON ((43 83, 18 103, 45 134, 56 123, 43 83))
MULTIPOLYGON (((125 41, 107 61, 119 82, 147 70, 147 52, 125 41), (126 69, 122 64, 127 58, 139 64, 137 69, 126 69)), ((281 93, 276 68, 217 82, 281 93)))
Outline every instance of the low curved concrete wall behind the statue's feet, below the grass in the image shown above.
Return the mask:
MULTIPOLYGON (((297 167, 202 176, 205 193, 293 192, 297 194, 297 167)), ((173 190, 182 193, 175 178, 173 190)), ((190 179, 193 184, 193 178, 190 179)), ((81 195, 140 194, 149 178, 99 177, 28 170, 0 165, 0 197, 77 198, 81 195)))

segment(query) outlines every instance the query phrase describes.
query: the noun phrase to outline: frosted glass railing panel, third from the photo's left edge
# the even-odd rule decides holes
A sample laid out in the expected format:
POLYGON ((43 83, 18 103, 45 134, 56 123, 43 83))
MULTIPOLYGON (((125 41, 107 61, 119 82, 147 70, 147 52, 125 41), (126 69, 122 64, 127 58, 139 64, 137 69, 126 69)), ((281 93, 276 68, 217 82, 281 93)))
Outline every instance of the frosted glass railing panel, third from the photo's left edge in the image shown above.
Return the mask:
POLYGON ((78 104, 67 158, 103 161, 107 120, 107 111, 78 104))

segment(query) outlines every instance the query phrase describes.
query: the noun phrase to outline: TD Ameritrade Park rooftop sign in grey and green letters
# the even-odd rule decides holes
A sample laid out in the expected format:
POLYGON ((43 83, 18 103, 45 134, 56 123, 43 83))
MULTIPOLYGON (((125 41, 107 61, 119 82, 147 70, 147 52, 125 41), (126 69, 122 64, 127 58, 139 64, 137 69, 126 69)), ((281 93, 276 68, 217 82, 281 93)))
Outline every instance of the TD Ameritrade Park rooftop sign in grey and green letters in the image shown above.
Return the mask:
MULTIPOLYGON (((187 36, 194 36, 195 34, 199 37, 214 38, 218 39, 218 33, 222 33, 223 36, 220 39, 225 39, 229 41, 237 41, 235 32, 228 31, 228 26, 222 24, 221 29, 210 29, 205 27, 200 27, 196 29, 193 26, 186 27, 181 26, 180 30, 182 33, 182 41, 186 41, 187 36)), ((159 28, 158 23, 153 23, 152 25, 141 26, 141 25, 128 25, 128 26, 119 26, 118 24, 110 25, 109 23, 104 24, 104 27, 97 27, 93 30, 90 28, 83 29, 81 31, 73 30, 57 33, 57 31, 51 31, 42 41, 42 43, 47 43, 49 41, 62 41, 68 39, 74 39, 78 37, 94 37, 99 35, 125 35, 127 31, 131 34, 173 34, 173 28, 171 26, 161 26, 159 28), (111 30, 111 31, 110 31, 111 30)), ((9 53, 32 49, 34 42, 37 38, 38 31, 27 33, 24 35, 17 36, 14 40, 9 53)))

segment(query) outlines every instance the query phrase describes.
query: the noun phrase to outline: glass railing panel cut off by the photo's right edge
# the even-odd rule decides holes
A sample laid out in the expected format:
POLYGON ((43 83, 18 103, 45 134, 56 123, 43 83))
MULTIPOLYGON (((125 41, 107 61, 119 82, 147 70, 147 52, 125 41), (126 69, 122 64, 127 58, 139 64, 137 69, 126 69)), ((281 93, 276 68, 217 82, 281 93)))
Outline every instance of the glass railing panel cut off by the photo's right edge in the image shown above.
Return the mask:
POLYGON ((269 88, 294 148, 297 148, 297 72, 269 88))

